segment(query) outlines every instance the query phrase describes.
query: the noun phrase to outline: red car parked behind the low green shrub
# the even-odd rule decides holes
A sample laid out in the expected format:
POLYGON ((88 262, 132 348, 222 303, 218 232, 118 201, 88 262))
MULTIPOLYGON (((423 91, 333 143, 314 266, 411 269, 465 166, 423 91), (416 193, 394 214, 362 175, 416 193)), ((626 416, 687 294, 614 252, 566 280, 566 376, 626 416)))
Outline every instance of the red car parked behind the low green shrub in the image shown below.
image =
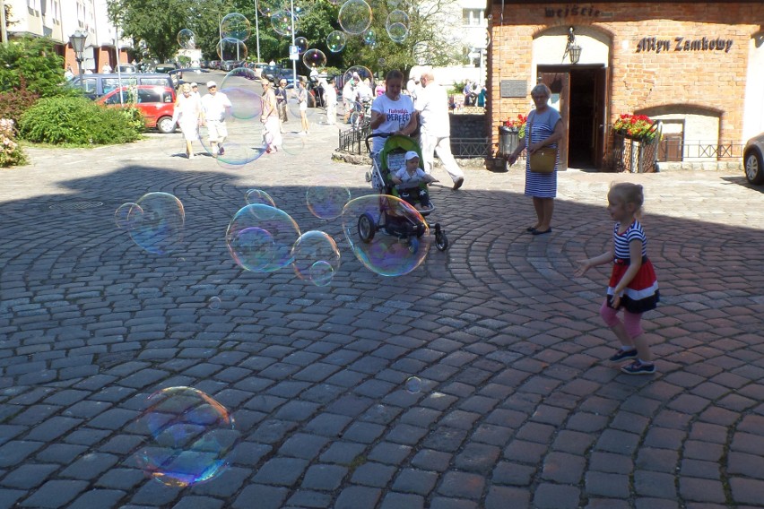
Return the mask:
POLYGON ((159 85, 137 85, 122 87, 110 91, 96 100, 108 107, 124 105, 135 106, 143 113, 146 127, 156 127, 160 133, 168 134, 175 131, 172 122, 172 110, 175 105, 175 91, 159 85), (120 94, 122 100, 120 101, 120 94))

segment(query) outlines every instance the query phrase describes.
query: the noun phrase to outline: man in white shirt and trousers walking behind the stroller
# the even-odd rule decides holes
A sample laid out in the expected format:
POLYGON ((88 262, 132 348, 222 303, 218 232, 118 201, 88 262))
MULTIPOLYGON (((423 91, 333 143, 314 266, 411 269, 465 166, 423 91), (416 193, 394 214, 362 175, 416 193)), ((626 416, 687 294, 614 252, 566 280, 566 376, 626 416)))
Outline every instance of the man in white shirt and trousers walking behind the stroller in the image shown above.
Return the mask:
POLYGON ((414 109, 419 112, 421 124, 421 156, 424 170, 432 172, 434 154, 443 163, 448 175, 454 181, 454 190, 464 184, 464 172, 451 155, 451 119, 448 116, 448 94, 446 89, 435 82, 431 70, 421 73, 421 90, 414 101, 414 109))

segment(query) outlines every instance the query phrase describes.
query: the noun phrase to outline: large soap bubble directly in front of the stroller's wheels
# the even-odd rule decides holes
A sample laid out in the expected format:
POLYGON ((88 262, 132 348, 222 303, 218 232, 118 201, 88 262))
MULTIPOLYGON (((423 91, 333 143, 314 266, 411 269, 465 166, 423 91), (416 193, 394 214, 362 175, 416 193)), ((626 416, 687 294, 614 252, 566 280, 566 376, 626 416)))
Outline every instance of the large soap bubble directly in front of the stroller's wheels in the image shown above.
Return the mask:
POLYGON ((343 230, 353 255, 382 276, 412 272, 427 257, 429 228, 419 211, 400 198, 369 194, 348 202, 343 230))

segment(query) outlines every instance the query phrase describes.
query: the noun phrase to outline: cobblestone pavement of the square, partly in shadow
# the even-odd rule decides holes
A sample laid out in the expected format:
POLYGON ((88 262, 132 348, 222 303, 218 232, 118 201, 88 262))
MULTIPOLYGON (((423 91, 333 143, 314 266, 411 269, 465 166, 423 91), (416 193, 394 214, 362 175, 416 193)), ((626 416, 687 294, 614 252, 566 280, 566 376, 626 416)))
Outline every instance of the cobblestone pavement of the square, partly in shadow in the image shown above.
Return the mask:
POLYGON ((431 188, 450 249, 383 278, 305 204, 327 179, 369 193, 365 168, 330 160, 336 132, 243 168, 185 160, 175 134, 30 149, 0 172, 0 507, 764 507, 762 188, 571 170, 554 232, 532 237, 522 172, 468 168, 461 190, 431 188), (614 180, 646 188, 653 376, 606 361, 607 268, 572 276, 609 240, 614 180), (232 262, 224 232, 251 187, 337 238, 330 286, 232 262), (171 256, 115 227, 152 191, 186 207, 171 256), (242 434, 230 469, 188 488, 133 456, 148 395, 178 385, 242 434))

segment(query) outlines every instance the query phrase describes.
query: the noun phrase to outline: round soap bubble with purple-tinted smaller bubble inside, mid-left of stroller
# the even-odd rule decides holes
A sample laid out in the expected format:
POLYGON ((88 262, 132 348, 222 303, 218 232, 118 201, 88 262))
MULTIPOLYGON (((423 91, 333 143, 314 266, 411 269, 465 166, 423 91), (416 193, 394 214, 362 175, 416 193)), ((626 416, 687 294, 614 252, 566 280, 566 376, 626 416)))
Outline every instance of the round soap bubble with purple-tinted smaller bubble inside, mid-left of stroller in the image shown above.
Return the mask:
POLYGON ((234 262, 252 272, 274 272, 292 263, 298 237, 300 229, 289 214, 259 203, 236 212, 225 235, 234 262))

